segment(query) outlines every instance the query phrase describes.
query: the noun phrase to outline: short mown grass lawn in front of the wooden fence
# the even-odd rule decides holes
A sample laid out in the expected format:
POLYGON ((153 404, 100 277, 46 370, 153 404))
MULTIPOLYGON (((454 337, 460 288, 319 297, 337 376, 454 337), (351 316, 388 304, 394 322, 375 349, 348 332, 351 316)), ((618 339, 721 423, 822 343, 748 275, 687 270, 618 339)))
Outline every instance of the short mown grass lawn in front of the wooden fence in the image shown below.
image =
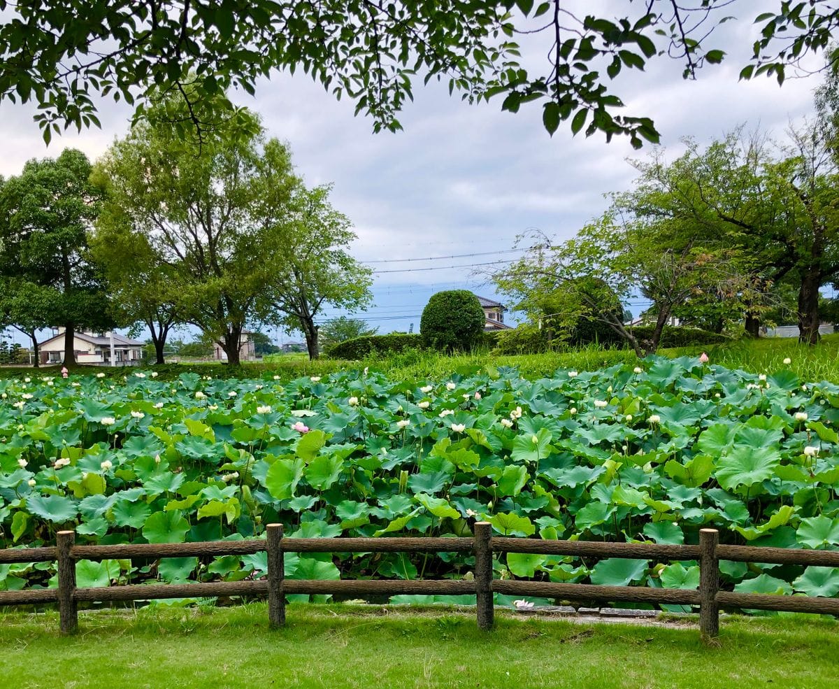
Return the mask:
POLYGON ((727 618, 720 645, 695 624, 640 626, 472 613, 290 606, 269 629, 265 606, 0 614, 4 687, 678 687, 834 689, 839 623, 804 616, 727 618))

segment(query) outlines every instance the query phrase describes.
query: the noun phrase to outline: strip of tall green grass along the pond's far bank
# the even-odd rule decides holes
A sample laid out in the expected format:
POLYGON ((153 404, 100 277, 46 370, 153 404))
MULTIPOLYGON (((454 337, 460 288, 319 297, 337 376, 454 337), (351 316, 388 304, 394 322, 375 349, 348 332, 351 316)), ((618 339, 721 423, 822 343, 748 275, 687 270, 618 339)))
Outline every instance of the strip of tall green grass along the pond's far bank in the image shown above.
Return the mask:
MULTIPOLYGON (((795 338, 767 337, 759 340, 709 345, 708 347, 679 347, 661 349, 665 357, 682 355, 698 356, 707 352, 711 363, 721 363, 729 368, 743 368, 753 373, 770 373, 789 368, 806 381, 822 380, 839 384, 839 334, 822 337, 816 347, 800 345, 795 338), (784 358, 792 359, 787 366, 784 358)), ((439 352, 409 350, 388 357, 369 358, 362 362, 321 359, 310 362, 305 354, 291 354, 277 357, 270 363, 246 363, 230 367, 221 363, 166 364, 155 367, 161 379, 177 378, 180 373, 199 373, 222 378, 260 378, 279 375, 284 380, 300 376, 327 375, 329 373, 369 367, 382 371, 392 378, 443 378, 458 372, 473 372, 478 368, 492 366, 518 367, 524 378, 550 376, 557 368, 580 371, 604 368, 615 363, 631 363, 636 360, 627 349, 604 349, 591 346, 568 352, 547 352, 544 354, 520 354, 498 356, 491 352, 476 352, 449 356, 439 352)), ((122 380, 131 373, 130 368, 79 367, 74 373, 106 373, 108 377, 122 380)), ((0 378, 19 378, 25 375, 60 375, 60 366, 33 368, 0 368, 0 378)))

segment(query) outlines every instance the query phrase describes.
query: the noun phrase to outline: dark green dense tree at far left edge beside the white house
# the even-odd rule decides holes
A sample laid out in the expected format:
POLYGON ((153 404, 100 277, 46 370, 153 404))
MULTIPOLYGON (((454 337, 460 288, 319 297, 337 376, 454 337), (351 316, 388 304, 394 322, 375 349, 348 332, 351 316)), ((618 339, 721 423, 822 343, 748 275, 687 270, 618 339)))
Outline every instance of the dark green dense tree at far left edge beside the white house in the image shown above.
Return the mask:
POLYGON ((64 326, 65 366, 76 363, 76 328, 112 326, 102 276, 87 256, 101 202, 90 176, 85 154, 65 149, 30 160, 0 190, 0 275, 18 299, 31 300, 13 308, 15 320, 33 338, 46 323, 64 326))

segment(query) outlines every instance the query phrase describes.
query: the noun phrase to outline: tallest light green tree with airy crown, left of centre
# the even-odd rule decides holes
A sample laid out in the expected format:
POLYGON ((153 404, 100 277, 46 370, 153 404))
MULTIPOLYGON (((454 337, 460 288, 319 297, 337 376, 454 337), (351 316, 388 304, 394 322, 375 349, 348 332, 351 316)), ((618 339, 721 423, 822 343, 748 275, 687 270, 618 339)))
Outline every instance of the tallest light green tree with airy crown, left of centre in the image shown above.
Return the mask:
POLYGON ((289 150, 266 140, 252 113, 239 114, 241 128, 218 128, 195 148, 164 123, 189 117, 187 107, 164 99, 112 145, 97 172, 109 208, 122 213, 104 236, 122 233, 123 246, 145 237, 148 279, 171 284, 144 304, 171 300, 178 320, 215 339, 232 365, 266 285, 284 269, 273 232, 300 185, 289 150))

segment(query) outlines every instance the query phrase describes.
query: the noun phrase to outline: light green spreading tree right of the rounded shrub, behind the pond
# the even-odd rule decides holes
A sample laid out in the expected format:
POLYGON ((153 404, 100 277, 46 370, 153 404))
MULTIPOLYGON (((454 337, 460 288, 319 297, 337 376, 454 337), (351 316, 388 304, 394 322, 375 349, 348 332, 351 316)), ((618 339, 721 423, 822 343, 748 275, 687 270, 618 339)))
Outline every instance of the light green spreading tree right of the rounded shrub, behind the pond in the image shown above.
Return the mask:
POLYGON ((741 284, 724 248, 696 246, 670 222, 643 222, 614 207, 568 242, 554 245, 543 237, 494 279, 531 316, 546 295, 566 329, 581 319, 601 322, 639 357, 658 349, 675 307, 691 295, 717 289, 736 294, 741 284), (623 303, 638 293, 653 302, 655 316, 644 340, 623 321, 623 303))

